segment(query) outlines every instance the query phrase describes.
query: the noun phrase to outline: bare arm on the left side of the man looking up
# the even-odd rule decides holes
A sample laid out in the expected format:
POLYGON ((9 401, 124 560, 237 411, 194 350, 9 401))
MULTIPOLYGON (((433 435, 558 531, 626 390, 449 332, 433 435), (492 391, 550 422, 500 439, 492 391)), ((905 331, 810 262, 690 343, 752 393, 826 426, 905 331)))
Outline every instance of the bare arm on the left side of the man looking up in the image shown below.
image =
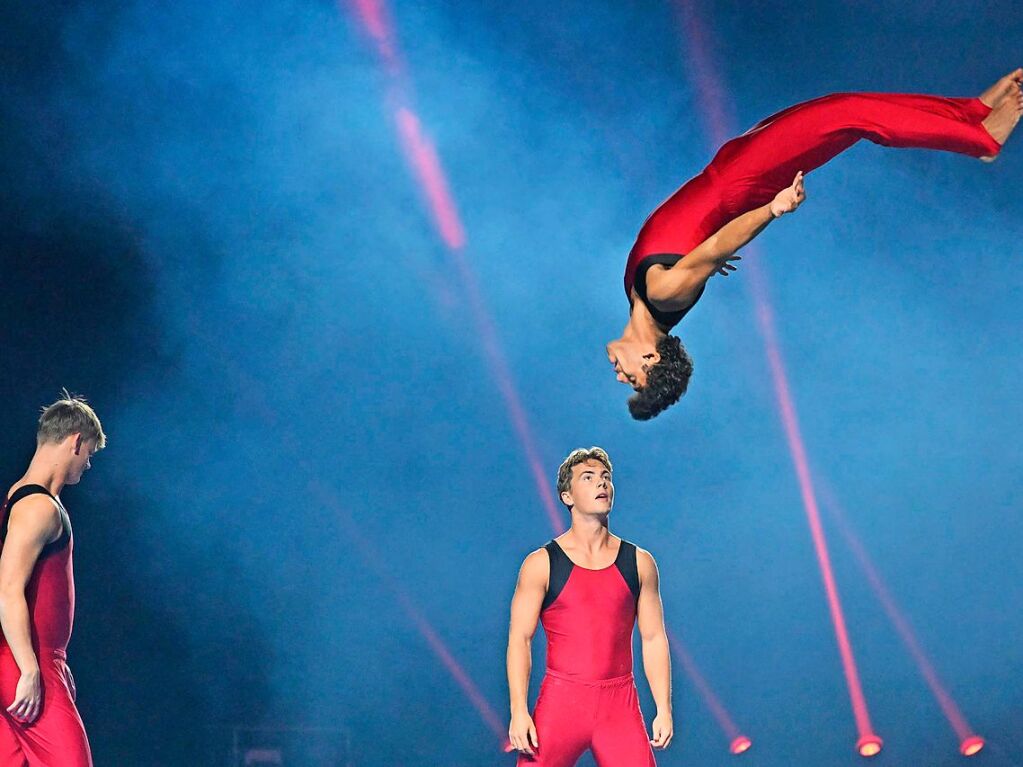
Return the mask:
POLYGON ((533 754, 533 749, 539 746, 527 700, 529 672, 532 668, 530 645, 533 634, 536 633, 536 624, 540 620, 540 607, 543 606, 549 577, 550 560, 547 552, 537 549, 522 563, 519 582, 511 597, 507 653, 508 694, 511 702, 508 739, 513 748, 525 754, 533 754))

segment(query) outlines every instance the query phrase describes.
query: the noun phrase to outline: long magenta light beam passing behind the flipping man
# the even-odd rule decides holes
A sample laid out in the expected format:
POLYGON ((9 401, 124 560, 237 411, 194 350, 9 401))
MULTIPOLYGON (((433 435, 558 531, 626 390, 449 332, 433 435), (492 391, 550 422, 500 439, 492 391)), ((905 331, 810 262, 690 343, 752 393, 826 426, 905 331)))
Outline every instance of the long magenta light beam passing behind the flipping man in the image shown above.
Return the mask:
MULTIPOLYGON (((677 2, 682 29, 688 43, 686 50, 688 52, 695 89, 706 122, 707 133, 711 139, 711 143, 721 145, 728 140, 730 134, 733 132, 730 130, 733 127, 730 123, 733 121, 729 120, 725 106, 727 103, 724 97, 725 91, 718 80, 717 70, 713 65, 709 53, 706 27, 694 5, 692 0, 678 0, 677 2)), ((788 376, 782 359, 781 345, 774 330, 770 303, 765 287, 766 280, 758 266, 760 259, 756 256, 757 249, 748 250, 752 250, 755 255, 749 262, 749 268, 753 282, 753 301, 756 309, 757 323, 767 353, 779 413, 782 417, 782 424, 789 444, 789 452, 796 469, 803 508, 810 526, 810 535, 816 551, 820 577, 825 585, 828 606, 835 629, 835 638, 838 643, 839 655, 842 659, 842 670, 845 674, 849 700, 852 705, 856 730, 859 735, 859 739, 856 742, 856 750, 861 756, 872 757, 881 752, 883 743, 881 738, 874 732, 870 712, 866 707, 866 698, 863 695, 862 685, 859 681, 859 672, 856 669, 852 643, 849 640, 845 615, 842 611, 842 602, 839 598, 838 586, 836 585, 835 575, 832 570, 828 541, 820 524, 820 513, 817 508, 816 497, 813 493, 813 482, 809 462, 806 459, 806 447, 799 428, 796 404, 789 388, 788 376)))

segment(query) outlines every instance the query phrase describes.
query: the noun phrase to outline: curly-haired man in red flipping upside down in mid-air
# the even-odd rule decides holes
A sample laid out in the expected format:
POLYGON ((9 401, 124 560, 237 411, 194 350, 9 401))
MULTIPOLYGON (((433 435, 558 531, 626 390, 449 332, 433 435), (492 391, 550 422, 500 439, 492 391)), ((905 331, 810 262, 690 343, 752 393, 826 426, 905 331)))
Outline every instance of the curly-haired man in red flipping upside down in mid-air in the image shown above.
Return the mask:
POLYGON ((865 138, 992 161, 1023 114, 1023 69, 977 98, 836 93, 773 115, 722 146, 647 219, 625 268, 628 323, 608 344, 629 410, 652 418, 685 393, 693 362, 671 328, 736 253, 803 201, 803 173, 865 138))

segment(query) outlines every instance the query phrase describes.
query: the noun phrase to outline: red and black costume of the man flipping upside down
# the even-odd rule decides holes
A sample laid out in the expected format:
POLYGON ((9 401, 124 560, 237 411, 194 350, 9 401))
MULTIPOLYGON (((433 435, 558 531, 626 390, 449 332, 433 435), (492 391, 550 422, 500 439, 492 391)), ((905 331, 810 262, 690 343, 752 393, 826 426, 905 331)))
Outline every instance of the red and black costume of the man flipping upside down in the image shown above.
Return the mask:
MULTIPOLYGON (((978 98, 836 93, 773 115, 718 150, 711 164, 654 211, 625 268, 625 294, 646 300, 646 269, 671 265, 732 219, 766 205, 808 173, 865 138, 884 146, 945 149, 975 157, 1002 148, 980 124, 978 98), (660 257, 660 258, 658 258, 660 257)), ((672 326, 683 312, 663 312, 672 326)))

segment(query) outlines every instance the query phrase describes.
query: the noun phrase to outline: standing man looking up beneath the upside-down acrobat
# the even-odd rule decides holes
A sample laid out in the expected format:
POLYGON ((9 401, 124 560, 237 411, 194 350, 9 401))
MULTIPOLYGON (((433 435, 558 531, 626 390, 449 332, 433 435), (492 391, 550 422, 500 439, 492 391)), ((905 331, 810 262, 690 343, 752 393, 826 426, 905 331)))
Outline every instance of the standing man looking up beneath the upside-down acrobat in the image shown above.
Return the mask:
POLYGON ((574 450, 558 469, 558 491, 572 512, 572 527, 526 557, 511 598, 508 737, 520 752, 520 767, 571 767, 587 749, 599 767, 651 767, 651 747, 666 749, 673 733, 657 565, 649 552, 608 530, 615 486, 604 450, 574 450), (547 637, 547 667, 530 717, 530 643, 537 621, 547 637), (652 740, 632 678, 637 622, 657 705, 652 740))

